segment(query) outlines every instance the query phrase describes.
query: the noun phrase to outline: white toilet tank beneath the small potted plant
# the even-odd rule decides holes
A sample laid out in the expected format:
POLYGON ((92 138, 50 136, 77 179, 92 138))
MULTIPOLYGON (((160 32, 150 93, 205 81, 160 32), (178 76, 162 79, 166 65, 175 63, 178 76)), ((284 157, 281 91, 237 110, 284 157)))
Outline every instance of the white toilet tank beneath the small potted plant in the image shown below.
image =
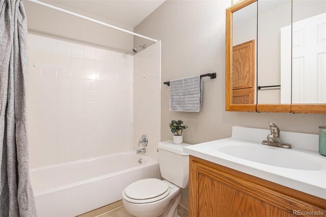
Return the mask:
POLYGON ((173 141, 158 143, 158 162, 161 175, 166 180, 187 188, 189 183, 189 155, 183 147, 190 144, 175 145, 173 141))

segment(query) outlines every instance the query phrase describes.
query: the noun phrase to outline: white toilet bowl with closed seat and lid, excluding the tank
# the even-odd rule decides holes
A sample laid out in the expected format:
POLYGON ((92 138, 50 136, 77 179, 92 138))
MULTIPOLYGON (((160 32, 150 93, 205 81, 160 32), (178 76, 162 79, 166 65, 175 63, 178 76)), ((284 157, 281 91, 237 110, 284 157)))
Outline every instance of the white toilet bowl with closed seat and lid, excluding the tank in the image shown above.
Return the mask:
POLYGON ((142 179, 123 190, 122 201, 134 216, 178 216, 181 188, 167 180, 142 179))

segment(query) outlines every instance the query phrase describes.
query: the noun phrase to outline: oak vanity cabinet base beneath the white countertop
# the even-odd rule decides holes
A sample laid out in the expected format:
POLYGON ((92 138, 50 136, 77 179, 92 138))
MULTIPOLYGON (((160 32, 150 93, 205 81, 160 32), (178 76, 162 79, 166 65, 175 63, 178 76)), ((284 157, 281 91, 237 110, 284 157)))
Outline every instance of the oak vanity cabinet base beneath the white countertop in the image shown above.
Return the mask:
POLYGON ((189 216, 326 216, 324 199, 195 156, 189 173, 189 216))

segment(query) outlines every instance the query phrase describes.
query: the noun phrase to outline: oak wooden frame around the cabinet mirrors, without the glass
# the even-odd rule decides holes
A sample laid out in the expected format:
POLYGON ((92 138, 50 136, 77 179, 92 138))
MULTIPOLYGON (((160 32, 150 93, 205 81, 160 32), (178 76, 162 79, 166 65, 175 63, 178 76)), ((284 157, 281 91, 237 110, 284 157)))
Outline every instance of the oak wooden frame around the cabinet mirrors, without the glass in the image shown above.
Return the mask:
POLYGON ((232 14, 254 2, 242 0, 226 9, 225 111, 326 114, 326 104, 232 104, 232 14))

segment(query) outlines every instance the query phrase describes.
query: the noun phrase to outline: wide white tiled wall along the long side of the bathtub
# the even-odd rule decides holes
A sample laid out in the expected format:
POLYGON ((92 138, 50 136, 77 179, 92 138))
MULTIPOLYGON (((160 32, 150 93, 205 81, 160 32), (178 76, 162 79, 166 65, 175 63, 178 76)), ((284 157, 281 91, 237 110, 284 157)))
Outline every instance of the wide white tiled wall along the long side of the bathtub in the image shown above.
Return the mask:
POLYGON ((132 149, 133 57, 29 34, 30 167, 132 149))

